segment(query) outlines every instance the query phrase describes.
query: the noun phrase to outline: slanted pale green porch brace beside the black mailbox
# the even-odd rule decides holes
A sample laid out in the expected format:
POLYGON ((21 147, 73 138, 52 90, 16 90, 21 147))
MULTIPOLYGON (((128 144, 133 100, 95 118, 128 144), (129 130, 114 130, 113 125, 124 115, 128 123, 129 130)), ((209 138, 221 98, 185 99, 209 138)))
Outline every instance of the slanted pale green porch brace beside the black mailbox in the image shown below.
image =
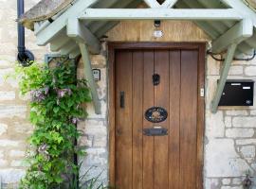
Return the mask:
POLYGON ((221 96, 223 94, 223 90, 225 87, 225 83, 226 83, 227 77, 229 75, 229 68, 231 66, 231 62, 233 60, 236 47, 237 47, 236 43, 233 43, 229 46, 228 53, 227 53, 227 56, 226 56, 226 59, 224 61, 224 65, 222 68, 221 77, 217 84, 217 90, 216 90, 214 98, 211 102, 211 112, 213 112, 213 113, 217 112, 218 105, 219 105, 219 102, 220 102, 220 99, 221 99, 221 96))

